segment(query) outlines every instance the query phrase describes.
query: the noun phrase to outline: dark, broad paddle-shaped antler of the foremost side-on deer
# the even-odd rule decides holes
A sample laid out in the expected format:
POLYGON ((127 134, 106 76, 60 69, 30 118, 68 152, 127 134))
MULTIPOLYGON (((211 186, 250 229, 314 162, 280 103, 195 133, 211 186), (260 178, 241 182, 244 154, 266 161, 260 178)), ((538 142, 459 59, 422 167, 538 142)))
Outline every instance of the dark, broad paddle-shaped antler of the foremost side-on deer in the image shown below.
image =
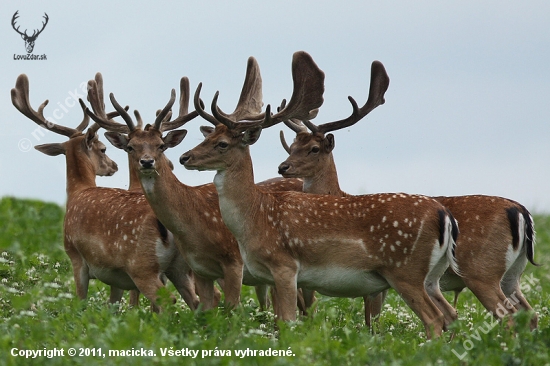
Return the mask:
POLYGON ((266 117, 262 123, 263 128, 271 127, 279 122, 291 118, 305 120, 310 117, 310 112, 323 105, 323 93, 325 91, 325 73, 313 61, 306 52, 295 52, 292 57, 292 80, 294 90, 286 107, 273 116, 266 117))

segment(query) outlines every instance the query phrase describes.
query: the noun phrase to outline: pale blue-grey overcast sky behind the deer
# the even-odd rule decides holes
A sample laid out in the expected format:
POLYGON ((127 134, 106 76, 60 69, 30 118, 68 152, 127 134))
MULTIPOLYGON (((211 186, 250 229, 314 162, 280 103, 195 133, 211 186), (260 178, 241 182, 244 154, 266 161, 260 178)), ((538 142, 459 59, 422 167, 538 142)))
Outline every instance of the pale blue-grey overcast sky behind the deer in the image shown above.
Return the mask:
MULTIPOLYGON (((28 150, 65 137, 34 133, 37 125, 13 107, 21 73, 33 107, 49 99, 44 114, 57 109, 58 124, 80 123, 72 96, 98 71, 106 93, 152 122, 182 76, 193 91, 203 82, 205 100, 219 90, 219 105, 232 111, 249 56, 262 71, 264 103, 278 104, 292 92, 292 54, 304 50, 326 74, 316 123, 349 115, 348 95, 364 103, 373 60, 391 79, 386 104, 334 133, 345 191, 479 193, 550 212, 548 1, 4 1, 0 14, 0 196, 66 199, 64 157, 28 150), (33 51, 47 60, 14 60, 26 54, 11 26, 17 10, 29 34, 48 14, 33 51)), ((186 125, 187 137, 168 153, 190 185, 213 178, 178 163, 202 140, 201 124, 186 125)), ((286 159, 283 128, 265 130, 252 146, 256 180, 277 176, 286 159)), ((126 188, 126 154, 102 138, 120 169, 98 185, 126 188)))

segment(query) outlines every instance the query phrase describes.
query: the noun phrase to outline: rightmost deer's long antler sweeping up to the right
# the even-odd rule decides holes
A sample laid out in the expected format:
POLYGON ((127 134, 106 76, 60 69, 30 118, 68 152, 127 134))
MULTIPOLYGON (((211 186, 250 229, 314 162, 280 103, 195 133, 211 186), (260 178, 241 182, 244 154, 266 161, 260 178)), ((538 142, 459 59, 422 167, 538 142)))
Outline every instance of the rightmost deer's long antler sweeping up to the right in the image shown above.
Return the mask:
POLYGON ((312 132, 320 133, 327 133, 329 131, 335 131, 349 127, 360 121, 373 109, 385 103, 384 93, 386 92, 386 90, 388 90, 389 85, 390 78, 386 73, 384 65, 382 65, 380 61, 374 61, 371 66, 369 98, 363 107, 359 108, 355 99, 350 96, 348 97, 348 99, 353 107, 353 112, 348 118, 339 121, 323 123, 319 126, 314 125, 307 119, 304 119, 303 122, 312 132))

